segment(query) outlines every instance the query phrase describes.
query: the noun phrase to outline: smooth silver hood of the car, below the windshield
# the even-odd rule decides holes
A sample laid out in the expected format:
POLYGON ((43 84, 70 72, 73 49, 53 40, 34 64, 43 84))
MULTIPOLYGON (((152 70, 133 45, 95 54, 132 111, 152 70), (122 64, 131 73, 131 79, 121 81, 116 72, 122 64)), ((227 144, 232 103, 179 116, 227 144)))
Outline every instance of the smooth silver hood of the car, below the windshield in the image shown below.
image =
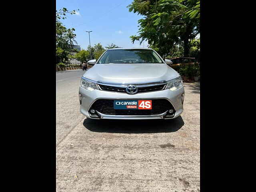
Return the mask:
POLYGON ((95 64, 83 75, 94 81, 110 83, 140 83, 171 80, 178 72, 163 64, 95 64))

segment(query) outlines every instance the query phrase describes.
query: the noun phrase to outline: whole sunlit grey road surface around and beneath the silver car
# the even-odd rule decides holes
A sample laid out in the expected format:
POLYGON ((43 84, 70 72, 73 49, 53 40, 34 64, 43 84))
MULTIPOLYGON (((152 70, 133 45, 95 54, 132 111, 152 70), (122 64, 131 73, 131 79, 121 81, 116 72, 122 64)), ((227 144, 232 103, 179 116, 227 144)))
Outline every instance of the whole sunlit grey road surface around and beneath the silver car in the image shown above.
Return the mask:
POLYGON ((174 120, 90 120, 82 70, 56 72, 56 192, 200 191, 200 84, 174 120))

